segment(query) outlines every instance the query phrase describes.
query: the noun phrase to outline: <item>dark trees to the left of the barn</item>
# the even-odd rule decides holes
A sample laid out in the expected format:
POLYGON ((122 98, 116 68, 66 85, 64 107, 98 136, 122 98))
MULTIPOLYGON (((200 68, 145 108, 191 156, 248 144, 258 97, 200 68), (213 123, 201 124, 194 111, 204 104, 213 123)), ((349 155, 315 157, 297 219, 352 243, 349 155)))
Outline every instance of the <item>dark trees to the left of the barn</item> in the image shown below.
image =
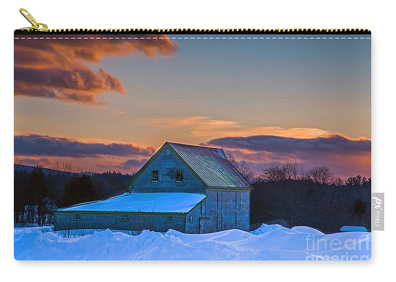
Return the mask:
POLYGON ((52 210, 127 192, 130 174, 33 169, 14 165, 14 223, 53 224, 52 210))

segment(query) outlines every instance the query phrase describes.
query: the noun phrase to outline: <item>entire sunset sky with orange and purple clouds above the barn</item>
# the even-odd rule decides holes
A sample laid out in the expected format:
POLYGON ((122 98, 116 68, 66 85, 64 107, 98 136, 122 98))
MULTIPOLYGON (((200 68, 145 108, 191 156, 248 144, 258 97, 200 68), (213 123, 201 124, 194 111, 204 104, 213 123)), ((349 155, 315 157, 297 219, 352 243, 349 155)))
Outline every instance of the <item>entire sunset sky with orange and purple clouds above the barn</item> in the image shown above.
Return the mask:
POLYGON ((127 173, 173 141, 371 176, 369 36, 127 37, 15 39, 18 159, 127 173))

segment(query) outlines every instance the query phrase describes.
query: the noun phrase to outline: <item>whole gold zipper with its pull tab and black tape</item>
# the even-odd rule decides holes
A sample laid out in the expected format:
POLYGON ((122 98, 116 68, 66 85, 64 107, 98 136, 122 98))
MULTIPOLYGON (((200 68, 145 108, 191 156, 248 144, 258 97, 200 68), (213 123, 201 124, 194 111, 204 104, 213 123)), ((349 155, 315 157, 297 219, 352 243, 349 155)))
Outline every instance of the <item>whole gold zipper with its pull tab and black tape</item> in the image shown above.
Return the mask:
POLYGON ((368 29, 49 29, 26 9, 19 12, 32 26, 14 34, 371 34, 368 29))

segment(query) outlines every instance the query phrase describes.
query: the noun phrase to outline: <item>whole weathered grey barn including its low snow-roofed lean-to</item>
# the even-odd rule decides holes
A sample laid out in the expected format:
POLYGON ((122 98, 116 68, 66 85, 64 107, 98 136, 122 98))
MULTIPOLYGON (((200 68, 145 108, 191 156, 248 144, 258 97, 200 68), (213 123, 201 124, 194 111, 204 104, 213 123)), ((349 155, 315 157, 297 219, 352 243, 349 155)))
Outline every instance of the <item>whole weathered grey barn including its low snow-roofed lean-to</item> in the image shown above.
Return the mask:
POLYGON ((221 148, 166 142, 128 187, 129 193, 57 209, 55 230, 249 231, 251 186, 221 148))

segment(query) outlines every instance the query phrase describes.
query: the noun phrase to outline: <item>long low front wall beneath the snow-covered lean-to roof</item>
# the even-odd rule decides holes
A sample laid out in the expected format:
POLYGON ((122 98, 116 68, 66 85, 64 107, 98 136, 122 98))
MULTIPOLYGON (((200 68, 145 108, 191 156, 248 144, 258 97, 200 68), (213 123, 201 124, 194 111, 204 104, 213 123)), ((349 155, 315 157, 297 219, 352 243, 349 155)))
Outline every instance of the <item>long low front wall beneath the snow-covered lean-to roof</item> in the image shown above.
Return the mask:
POLYGON ((55 230, 72 229, 113 229, 113 230, 150 230, 166 232, 174 229, 185 232, 186 214, 174 216, 174 222, 166 222, 166 216, 129 216, 129 221, 121 221, 121 215, 82 214, 81 220, 74 220, 74 214, 57 214, 55 230))

